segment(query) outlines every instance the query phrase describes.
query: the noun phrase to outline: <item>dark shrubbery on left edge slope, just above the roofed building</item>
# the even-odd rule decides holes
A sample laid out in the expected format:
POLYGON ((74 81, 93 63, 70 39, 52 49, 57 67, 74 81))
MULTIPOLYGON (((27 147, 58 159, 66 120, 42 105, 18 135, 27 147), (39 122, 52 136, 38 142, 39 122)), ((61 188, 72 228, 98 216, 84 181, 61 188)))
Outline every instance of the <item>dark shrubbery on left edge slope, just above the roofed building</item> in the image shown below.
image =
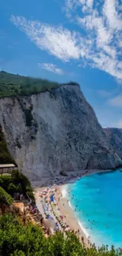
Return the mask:
POLYGON ((15 164, 13 157, 9 154, 6 145, 6 139, 2 133, 2 127, 0 126, 0 164, 15 164))

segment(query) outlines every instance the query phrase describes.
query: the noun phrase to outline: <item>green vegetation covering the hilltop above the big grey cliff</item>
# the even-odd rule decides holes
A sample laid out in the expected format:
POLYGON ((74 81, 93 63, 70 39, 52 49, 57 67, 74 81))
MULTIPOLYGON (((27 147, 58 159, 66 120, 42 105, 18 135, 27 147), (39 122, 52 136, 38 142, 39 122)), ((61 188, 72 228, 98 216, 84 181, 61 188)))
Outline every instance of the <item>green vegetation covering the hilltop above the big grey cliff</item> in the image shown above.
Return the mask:
POLYGON ((17 95, 32 95, 43 91, 51 91, 60 84, 49 80, 13 75, 0 72, 0 98, 17 95))

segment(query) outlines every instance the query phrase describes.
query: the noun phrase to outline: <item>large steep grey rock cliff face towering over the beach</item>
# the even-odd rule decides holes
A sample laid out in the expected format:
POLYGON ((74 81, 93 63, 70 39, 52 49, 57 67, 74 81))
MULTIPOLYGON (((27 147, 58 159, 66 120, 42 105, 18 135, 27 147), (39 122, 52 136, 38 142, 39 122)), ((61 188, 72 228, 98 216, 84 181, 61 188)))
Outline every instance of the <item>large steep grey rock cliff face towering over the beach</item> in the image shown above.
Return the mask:
POLYGON ((1 98, 0 113, 9 151, 31 180, 61 170, 113 169, 119 163, 78 85, 1 98))

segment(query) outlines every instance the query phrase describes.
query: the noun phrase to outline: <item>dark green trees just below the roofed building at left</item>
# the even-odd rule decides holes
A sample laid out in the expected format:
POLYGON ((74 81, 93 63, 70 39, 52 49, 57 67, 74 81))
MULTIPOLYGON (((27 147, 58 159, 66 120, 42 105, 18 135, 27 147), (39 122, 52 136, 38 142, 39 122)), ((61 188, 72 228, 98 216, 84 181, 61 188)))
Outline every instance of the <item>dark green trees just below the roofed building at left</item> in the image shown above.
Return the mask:
POLYGON ((16 193, 22 193, 31 198, 32 202, 35 203, 35 197, 31 188, 30 181, 24 174, 17 170, 11 172, 11 176, 0 176, 0 186, 5 189, 9 195, 16 193))

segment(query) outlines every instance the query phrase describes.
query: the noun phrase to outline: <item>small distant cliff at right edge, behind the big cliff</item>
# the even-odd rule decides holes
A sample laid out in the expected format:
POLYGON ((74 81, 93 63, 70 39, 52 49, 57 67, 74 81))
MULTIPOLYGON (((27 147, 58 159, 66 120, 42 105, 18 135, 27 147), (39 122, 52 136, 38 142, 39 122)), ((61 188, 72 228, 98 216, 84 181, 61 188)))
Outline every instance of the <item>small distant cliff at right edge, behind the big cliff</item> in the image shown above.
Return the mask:
POLYGON ((122 158, 122 129, 121 128, 104 128, 109 143, 113 150, 122 158))

